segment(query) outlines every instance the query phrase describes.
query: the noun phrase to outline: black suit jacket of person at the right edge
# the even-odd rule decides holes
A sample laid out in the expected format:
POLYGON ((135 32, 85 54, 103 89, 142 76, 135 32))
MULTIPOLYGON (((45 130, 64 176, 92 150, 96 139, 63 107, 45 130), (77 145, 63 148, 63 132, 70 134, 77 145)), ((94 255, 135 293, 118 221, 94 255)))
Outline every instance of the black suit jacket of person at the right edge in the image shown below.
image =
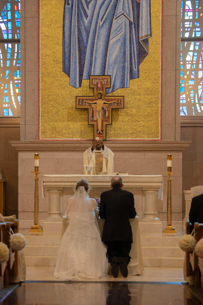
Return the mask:
POLYGON ((192 198, 189 221, 203 223, 203 194, 192 198))

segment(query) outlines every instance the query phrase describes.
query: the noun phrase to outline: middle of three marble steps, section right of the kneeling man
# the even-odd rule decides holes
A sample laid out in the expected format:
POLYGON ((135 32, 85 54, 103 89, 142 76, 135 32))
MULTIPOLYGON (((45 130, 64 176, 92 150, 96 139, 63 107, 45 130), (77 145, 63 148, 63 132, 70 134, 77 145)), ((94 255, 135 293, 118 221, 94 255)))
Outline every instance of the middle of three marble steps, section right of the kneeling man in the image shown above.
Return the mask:
POLYGON ((184 257, 185 253, 179 246, 142 246, 143 257, 184 257))

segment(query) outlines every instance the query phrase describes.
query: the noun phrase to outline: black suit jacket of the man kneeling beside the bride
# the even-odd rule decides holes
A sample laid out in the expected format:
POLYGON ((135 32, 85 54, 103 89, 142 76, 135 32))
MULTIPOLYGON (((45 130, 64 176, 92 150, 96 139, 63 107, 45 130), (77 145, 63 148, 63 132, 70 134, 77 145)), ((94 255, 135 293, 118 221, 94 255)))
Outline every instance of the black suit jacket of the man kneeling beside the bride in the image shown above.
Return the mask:
POLYGON ((105 219, 102 241, 132 241, 129 218, 135 218, 134 197, 120 187, 101 193, 100 218, 105 219))

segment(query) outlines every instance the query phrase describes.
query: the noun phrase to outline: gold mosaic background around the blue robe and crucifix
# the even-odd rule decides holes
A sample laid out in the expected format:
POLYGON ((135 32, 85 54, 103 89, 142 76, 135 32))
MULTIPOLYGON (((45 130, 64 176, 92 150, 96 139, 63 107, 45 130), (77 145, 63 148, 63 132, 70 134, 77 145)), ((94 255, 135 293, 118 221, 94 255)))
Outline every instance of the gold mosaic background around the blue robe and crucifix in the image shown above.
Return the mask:
MULTIPOLYGON (((139 78, 110 95, 124 95, 124 109, 112 111, 107 139, 160 139, 160 0, 151 0, 152 37, 139 78)), ((40 1, 40 139, 92 139, 86 109, 75 109, 75 96, 93 95, 89 80, 69 85, 62 72, 64 0, 40 1)))

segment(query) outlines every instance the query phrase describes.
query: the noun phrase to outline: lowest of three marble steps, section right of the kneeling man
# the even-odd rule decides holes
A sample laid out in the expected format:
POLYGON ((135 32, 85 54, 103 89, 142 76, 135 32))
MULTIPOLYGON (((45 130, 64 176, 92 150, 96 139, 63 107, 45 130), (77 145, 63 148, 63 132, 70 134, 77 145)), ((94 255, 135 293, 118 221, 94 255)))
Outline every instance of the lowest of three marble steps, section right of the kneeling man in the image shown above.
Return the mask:
POLYGON ((144 267, 183 267, 184 257, 142 257, 144 267))

